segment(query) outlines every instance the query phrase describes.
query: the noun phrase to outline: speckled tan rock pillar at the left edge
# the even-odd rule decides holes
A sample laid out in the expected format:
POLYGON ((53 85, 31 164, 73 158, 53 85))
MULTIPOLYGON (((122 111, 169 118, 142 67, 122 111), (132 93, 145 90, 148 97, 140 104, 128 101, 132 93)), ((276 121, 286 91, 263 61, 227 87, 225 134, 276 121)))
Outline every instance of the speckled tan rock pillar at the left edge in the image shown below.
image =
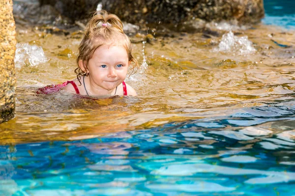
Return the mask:
POLYGON ((12 0, 0 0, 0 123, 14 116, 15 46, 12 0))

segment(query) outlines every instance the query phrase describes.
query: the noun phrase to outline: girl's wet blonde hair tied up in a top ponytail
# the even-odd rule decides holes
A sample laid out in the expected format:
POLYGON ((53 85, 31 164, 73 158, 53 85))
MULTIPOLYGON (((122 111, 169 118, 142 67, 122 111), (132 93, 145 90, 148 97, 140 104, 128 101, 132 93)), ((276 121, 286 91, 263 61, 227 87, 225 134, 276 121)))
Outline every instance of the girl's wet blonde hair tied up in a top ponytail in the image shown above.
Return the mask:
POLYGON ((123 31, 123 24, 118 16, 109 14, 105 10, 96 12, 86 25, 83 39, 78 48, 76 63, 78 68, 75 69, 77 79, 81 85, 81 75, 88 75, 79 67, 79 61, 83 61, 85 70, 88 70, 89 60, 94 51, 103 45, 122 46, 126 49, 130 64, 129 75, 135 73, 138 69, 137 60, 132 56, 132 45, 129 37, 123 31), (136 68, 136 70, 135 70, 136 68))

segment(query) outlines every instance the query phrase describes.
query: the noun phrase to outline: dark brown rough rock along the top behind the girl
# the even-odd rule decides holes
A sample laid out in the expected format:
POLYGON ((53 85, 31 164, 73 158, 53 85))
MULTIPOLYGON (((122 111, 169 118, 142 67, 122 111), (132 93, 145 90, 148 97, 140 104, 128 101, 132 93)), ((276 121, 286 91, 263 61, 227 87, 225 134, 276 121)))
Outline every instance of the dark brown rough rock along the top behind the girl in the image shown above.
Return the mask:
POLYGON ((203 19, 221 21, 236 19, 241 24, 256 23, 264 17, 263 0, 39 0, 55 6, 62 15, 73 20, 84 19, 102 8, 128 23, 181 25, 203 19), (79 9, 78 9, 79 8, 79 9))

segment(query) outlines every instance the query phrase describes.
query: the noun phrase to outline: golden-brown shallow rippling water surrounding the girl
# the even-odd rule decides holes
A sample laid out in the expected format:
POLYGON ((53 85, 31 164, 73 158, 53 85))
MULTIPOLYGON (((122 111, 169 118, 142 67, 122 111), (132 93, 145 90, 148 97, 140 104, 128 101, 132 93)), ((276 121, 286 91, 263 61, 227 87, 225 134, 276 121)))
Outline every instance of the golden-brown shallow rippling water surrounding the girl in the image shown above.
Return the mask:
MULTIPOLYGON (((18 41, 29 43, 22 46, 38 46, 46 61, 34 59, 38 65, 27 62, 17 68, 16 118, 0 125, 3 145, 93 138, 114 131, 219 118, 243 113, 245 108, 294 100, 292 31, 258 25, 233 32, 175 33, 174 38, 159 36, 153 44, 139 42, 134 44, 134 56, 144 66, 126 79, 139 96, 95 100, 64 92, 35 93, 41 86, 75 78, 80 31, 56 35, 36 27, 17 29, 18 41), (223 39, 225 35, 230 39, 223 39)), ((34 51, 23 50, 23 54, 34 51)), ((263 115, 268 118, 272 112, 263 115)))

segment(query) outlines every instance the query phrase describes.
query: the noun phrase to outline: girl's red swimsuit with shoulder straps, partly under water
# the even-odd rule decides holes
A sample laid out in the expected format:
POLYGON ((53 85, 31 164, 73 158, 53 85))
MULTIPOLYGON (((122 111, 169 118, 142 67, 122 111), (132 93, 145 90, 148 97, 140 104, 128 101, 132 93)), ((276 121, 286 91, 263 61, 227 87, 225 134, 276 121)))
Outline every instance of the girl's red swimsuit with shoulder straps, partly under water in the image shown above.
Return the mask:
MULTIPOLYGON (((66 82, 63 82, 62 84, 58 84, 58 85, 55 85, 55 84, 47 85, 45 87, 42 87, 42 88, 38 89, 37 94, 58 93, 61 90, 61 88, 65 87, 69 83, 73 85, 76 93, 78 95, 80 95, 80 91, 78 89, 78 86, 77 86, 77 84, 74 81, 66 81, 66 82)), ((123 95, 124 96, 127 96, 127 87, 126 87, 126 84, 125 84, 124 81, 122 82, 122 85, 123 85, 123 95)), ((115 95, 116 95, 116 93, 115 93, 115 95)))

